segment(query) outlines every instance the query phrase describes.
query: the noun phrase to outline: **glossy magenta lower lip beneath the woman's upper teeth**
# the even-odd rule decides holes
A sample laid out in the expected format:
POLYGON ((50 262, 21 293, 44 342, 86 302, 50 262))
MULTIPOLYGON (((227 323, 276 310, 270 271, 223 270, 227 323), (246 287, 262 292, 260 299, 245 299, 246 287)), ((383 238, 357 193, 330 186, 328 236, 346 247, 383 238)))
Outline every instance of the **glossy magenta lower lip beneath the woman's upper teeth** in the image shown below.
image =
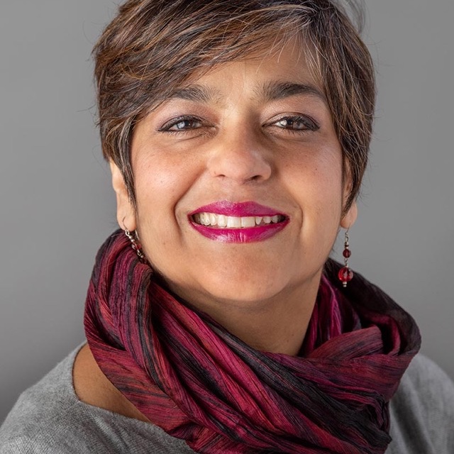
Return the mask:
POLYGON ((288 223, 287 219, 275 224, 250 228, 213 228, 201 226, 191 221, 192 227, 201 235, 220 243, 255 243, 264 241, 282 231, 288 223))

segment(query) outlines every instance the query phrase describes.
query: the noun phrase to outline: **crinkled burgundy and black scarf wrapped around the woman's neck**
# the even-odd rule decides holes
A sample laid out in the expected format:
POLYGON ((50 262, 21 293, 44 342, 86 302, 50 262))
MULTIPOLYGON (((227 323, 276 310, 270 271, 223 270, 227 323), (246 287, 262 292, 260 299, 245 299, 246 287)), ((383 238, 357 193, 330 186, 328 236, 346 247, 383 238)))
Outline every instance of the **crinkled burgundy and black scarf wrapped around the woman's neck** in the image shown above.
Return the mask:
POLYGON ((301 354, 266 353, 170 294, 116 231, 96 257, 87 341, 114 386, 196 453, 384 453, 419 331, 358 273, 342 289, 339 267, 326 264, 301 354))

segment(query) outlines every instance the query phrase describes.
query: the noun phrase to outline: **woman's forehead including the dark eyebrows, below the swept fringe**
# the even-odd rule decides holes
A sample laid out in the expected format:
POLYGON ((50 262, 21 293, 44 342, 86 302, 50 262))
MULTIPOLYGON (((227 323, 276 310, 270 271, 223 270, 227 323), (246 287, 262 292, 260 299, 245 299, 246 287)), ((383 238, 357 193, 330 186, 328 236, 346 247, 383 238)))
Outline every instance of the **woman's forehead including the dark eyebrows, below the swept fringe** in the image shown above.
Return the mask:
POLYGON ((248 74, 253 80, 255 97, 279 99, 304 93, 314 94, 328 104, 317 53, 310 40, 302 38, 301 33, 295 33, 291 38, 266 38, 256 42, 252 50, 241 52, 232 59, 218 57, 211 54, 209 59, 199 60, 195 69, 180 74, 181 77, 167 87, 158 83, 156 89, 160 87, 160 94, 155 91, 154 96, 148 98, 136 122, 172 99, 206 103, 216 97, 225 98, 229 85, 236 87, 241 83, 239 74, 248 74), (238 67, 243 67, 243 71, 238 71, 238 67))

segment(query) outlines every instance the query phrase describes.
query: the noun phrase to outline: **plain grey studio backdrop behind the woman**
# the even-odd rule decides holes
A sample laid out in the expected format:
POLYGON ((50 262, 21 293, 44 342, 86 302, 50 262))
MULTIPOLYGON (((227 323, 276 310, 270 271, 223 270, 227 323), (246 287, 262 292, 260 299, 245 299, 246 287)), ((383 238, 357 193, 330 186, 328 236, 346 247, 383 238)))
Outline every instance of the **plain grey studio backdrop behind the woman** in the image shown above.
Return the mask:
MULTIPOLYGON (((0 421, 83 341, 94 255, 116 228, 90 59, 116 2, 1 3, 0 421)), ((454 377, 454 2, 366 3, 379 98, 350 264, 454 377)))

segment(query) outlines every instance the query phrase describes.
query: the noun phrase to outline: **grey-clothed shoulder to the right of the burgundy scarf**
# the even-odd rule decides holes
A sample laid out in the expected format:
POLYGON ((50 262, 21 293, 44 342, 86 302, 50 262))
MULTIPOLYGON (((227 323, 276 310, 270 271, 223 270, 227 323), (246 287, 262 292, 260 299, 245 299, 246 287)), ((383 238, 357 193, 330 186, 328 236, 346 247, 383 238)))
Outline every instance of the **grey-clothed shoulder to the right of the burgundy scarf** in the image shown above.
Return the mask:
POLYGON ((454 383, 438 365, 416 355, 390 404, 387 453, 454 452, 454 383))

